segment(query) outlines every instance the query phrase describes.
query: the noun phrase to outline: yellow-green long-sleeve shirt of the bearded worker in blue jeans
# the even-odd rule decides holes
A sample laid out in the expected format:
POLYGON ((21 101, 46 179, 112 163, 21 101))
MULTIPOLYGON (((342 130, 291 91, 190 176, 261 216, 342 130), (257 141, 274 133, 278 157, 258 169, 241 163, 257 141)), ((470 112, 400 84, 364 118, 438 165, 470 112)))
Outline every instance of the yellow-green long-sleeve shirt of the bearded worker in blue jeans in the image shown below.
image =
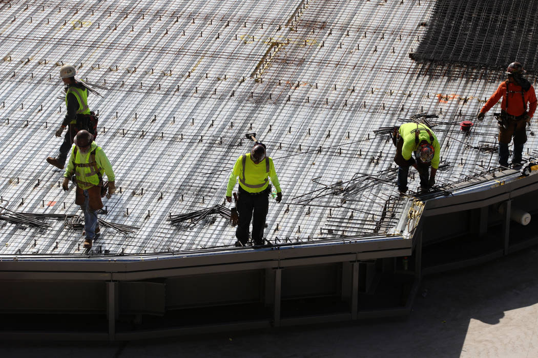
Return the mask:
POLYGON ((75 173, 77 185, 79 185, 82 189, 87 189, 91 186, 99 185, 99 178, 93 166, 76 165, 75 169, 75 163, 89 163, 90 154, 92 151, 95 150, 95 162, 97 163, 98 172, 101 174, 101 176, 103 175, 103 173, 107 174, 108 181, 115 181, 116 176, 114 175, 114 171, 112 170, 112 165, 110 165, 107 155, 104 154, 104 151, 101 147, 99 147, 95 142, 91 142, 91 147, 86 154, 83 154, 80 150, 77 150, 76 156, 74 155, 75 147, 76 146, 73 145, 66 172, 65 174, 63 174, 64 177, 69 178, 73 175, 73 173, 75 173))

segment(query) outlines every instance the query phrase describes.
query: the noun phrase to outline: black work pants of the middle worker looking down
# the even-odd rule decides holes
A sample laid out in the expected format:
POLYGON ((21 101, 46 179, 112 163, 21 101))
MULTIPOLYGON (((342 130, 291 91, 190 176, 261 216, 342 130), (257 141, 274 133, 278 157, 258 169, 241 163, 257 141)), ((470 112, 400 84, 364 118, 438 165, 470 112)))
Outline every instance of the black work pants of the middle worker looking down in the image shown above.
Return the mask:
POLYGON ((239 199, 237 201, 237 224, 236 237, 243 245, 249 240, 249 227, 252 220, 252 241, 254 245, 263 245, 265 217, 269 209, 269 195, 266 191, 259 194, 249 194, 239 187, 239 199))

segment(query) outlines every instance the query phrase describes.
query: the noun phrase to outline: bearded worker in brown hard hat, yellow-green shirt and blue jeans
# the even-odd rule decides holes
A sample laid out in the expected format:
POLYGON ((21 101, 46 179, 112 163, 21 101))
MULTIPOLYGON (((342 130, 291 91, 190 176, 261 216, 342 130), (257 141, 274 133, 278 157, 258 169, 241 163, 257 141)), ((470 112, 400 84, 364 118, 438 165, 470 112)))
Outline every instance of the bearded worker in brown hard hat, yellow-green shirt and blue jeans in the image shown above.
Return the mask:
POLYGON ((75 174, 75 204, 80 205, 84 213, 83 235, 86 237, 84 247, 89 249, 96 234, 100 231, 96 210, 103 207, 101 202, 103 173, 107 174, 108 178, 107 198, 110 198, 116 191, 115 176, 103 149, 94 142, 94 136, 87 130, 79 131, 74 138, 74 143, 62 188, 65 191, 69 189, 69 180, 75 174))

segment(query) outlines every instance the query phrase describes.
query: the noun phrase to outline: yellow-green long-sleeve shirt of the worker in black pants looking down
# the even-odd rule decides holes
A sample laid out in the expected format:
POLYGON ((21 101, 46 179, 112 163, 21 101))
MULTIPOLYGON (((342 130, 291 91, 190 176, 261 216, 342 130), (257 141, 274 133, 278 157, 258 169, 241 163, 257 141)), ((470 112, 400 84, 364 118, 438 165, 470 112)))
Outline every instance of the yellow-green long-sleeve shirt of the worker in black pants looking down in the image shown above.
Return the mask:
POLYGON ((232 190, 237 182, 238 177, 239 177, 239 185, 243 189, 245 189, 245 191, 249 193, 263 192, 269 185, 267 178, 271 179, 271 182, 273 183, 274 187, 277 189, 277 193, 281 192, 280 183, 277 177, 277 172, 275 172, 274 170, 273 159, 271 159, 270 157, 265 157, 265 159, 262 160, 258 164, 254 164, 254 162, 250 158, 250 153, 244 154, 240 156, 239 158, 237 158, 235 165, 233 165, 233 170, 232 170, 232 173, 230 174, 230 178, 228 179, 228 187, 226 187, 226 196, 232 195, 232 190), (243 156, 246 156, 244 171, 243 171, 243 156), (269 160, 269 172, 268 173, 267 173, 266 160, 269 160), (244 181, 246 185, 258 186, 258 187, 256 188, 248 187, 244 185, 242 181, 244 181))

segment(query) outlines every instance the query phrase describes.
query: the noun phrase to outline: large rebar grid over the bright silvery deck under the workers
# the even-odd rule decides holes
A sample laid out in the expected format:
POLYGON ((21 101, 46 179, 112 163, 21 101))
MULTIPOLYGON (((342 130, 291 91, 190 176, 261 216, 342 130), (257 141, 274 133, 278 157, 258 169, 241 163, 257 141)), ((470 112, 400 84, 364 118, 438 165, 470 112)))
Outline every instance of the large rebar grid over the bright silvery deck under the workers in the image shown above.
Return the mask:
MULTIPOLYGON (((486 116, 459 131, 497 87, 498 72, 409 59, 433 1, 173 1, 3 3, 0 20, 0 200, 12 211, 76 215, 74 190, 45 162, 65 114, 58 69, 105 85, 89 97, 100 114, 96 142, 118 192, 95 252, 143 254, 224 247, 224 218, 186 228, 171 215, 222 204, 244 137, 268 145, 284 200, 270 203, 267 239, 308 242, 383 235, 401 210, 394 147, 381 127, 418 113, 442 145, 447 186, 495 166, 497 128, 486 116), (150 30, 151 28, 151 30, 150 30), (463 179, 462 179, 463 178, 463 179)), ((493 111, 493 109, 492 109, 493 111)), ((532 148, 529 137, 527 148, 532 148)), ((478 176, 479 177, 479 176, 478 176)), ((410 181, 412 189, 418 178, 410 181)), ((237 188, 237 187, 236 187, 237 188)), ((226 205, 230 208, 230 205, 226 205)), ((82 237, 0 222, 0 254, 76 254, 82 237)))

